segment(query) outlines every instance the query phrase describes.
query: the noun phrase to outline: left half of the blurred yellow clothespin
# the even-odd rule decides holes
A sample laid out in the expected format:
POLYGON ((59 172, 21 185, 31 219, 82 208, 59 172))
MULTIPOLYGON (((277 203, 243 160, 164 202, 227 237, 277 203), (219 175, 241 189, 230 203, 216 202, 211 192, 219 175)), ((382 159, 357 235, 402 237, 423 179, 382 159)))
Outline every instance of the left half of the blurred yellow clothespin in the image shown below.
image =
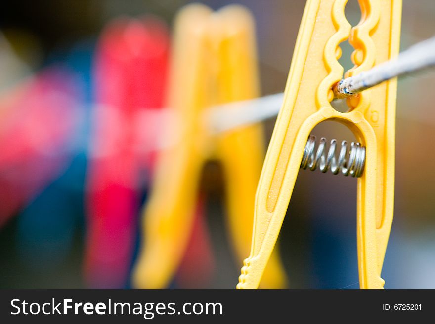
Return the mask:
POLYGON ((157 160, 151 196, 143 212, 144 242, 133 273, 137 288, 167 287, 192 227, 204 159, 203 138, 196 135, 204 135, 197 115, 207 104, 202 94, 207 80, 205 40, 210 15, 205 6, 189 6, 175 21, 169 104, 183 129, 179 142, 157 160))

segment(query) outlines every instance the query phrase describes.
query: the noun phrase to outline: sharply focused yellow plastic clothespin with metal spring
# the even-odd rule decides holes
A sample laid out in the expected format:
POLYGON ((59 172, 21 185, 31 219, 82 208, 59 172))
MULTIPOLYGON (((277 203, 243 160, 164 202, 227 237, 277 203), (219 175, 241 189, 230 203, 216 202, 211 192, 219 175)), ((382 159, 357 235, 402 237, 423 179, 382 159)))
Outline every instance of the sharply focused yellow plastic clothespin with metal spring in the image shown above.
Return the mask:
MULTIPOLYGON (((258 287, 280 231, 301 167, 326 171, 330 156, 316 156, 311 130, 332 119, 346 126, 363 146, 340 156, 343 173, 361 176, 357 194, 357 248, 360 288, 382 289, 381 278, 393 216, 396 80, 348 100, 349 111, 335 110, 332 87, 343 77, 339 44, 349 38, 355 51, 351 76, 396 56, 401 1, 359 0, 362 17, 351 29, 347 0, 308 0, 296 41, 284 103, 266 154, 255 203, 251 254, 244 261, 239 289, 258 287), (304 149, 305 147, 305 149, 304 149), (364 148, 365 147, 365 148, 364 148), (302 164, 301 164, 302 161, 302 164), (365 162, 365 169, 364 168, 365 162)), ((335 144, 334 144, 335 145, 335 144)), ((322 151, 322 149, 320 150, 322 151)), ((335 161, 336 162, 336 161, 335 161)), ((334 168, 335 163, 330 166, 334 168)), ((334 170, 337 172, 339 169, 334 170)))

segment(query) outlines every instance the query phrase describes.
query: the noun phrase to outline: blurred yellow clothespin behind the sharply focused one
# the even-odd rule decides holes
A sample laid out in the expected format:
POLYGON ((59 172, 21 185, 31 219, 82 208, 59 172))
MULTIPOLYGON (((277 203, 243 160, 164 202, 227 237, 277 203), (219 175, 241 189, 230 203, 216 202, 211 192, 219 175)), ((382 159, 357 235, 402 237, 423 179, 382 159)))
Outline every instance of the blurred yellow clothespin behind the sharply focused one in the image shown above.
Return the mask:
MULTIPOLYGON (((137 288, 165 288, 174 276, 192 229, 204 163, 223 164, 230 237, 241 261, 249 252, 254 198, 263 158, 261 125, 213 134, 206 108, 259 94, 254 23, 238 5, 212 12, 192 4, 175 23, 169 107, 182 130, 179 142, 164 151, 144 210, 144 242, 135 265, 137 288)), ((273 256, 265 288, 282 288, 285 274, 273 256)))

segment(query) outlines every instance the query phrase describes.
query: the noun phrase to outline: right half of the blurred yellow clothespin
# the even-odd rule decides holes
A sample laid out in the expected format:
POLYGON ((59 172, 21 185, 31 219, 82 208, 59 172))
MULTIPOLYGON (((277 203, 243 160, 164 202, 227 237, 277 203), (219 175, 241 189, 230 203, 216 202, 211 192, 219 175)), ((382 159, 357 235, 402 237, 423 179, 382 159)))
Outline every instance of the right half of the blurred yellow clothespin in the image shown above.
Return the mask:
MULTIPOLYGON (((219 16, 225 39, 219 48, 223 68, 220 103, 256 98, 260 93, 260 85, 253 17, 238 5, 221 9, 219 16)), ((226 183, 228 229, 239 260, 243 260, 250 250, 263 147, 263 129, 258 124, 225 133, 218 138, 217 156, 223 165, 226 183)), ((285 271, 279 253, 275 251, 262 277, 261 287, 279 289, 285 288, 286 284, 285 271)))

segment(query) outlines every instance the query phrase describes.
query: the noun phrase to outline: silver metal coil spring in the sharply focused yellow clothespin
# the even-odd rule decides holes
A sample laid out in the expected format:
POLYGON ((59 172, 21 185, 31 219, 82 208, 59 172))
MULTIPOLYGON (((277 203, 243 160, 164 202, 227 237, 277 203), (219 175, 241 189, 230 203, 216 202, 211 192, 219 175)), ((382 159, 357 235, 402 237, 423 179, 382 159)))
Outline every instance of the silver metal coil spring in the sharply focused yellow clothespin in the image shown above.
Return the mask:
POLYGON ((318 166, 323 173, 330 169, 335 175, 341 172, 344 176, 361 177, 365 164, 365 147, 358 142, 352 142, 348 152, 348 142, 343 141, 337 161, 337 141, 335 139, 331 140, 328 154, 326 154, 326 142, 327 140, 322 137, 316 150, 316 137, 313 135, 308 136, 301 168, 309 168, 314 171, 318 166))

